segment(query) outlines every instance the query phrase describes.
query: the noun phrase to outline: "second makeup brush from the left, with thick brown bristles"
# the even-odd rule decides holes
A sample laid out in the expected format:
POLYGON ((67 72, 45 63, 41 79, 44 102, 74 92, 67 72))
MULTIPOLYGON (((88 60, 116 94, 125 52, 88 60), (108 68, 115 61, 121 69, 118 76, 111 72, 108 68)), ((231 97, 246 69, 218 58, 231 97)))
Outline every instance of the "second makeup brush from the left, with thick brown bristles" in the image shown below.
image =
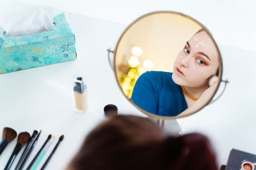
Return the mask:
POLYGON ((12 152, 12 155, 10 157, 10 159, 8 160, 6 166, 4 167, 4 170, 8 170, 11 168, 12 163, 15 159, 15 157, 18 155, 18 153, 20 152, 22 146, 26 145, 26 143, 28 143, 30 138, 30 134, 28 132, 21 132, 18 135, 18 140, 17 140, 17 144, 12 152))

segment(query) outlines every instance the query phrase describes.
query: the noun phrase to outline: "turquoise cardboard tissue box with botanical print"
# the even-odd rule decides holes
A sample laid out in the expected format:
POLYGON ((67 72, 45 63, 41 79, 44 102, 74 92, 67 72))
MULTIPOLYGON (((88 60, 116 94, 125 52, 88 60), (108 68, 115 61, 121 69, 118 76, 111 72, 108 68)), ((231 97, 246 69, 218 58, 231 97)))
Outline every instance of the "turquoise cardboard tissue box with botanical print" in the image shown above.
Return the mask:
POLYGON ((55 27, 31 36, 4 36, 0 27, 0 74, 76 59, 75 36, 64 13, 55 27))

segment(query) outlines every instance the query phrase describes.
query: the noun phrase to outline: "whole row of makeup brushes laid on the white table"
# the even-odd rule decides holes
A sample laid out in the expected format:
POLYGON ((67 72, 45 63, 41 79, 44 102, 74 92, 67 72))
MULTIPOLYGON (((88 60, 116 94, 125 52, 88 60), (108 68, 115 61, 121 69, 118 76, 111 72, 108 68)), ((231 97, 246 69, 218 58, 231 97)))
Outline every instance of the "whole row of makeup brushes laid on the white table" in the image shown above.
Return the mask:
MULTIPOLYGON (((38 141, 38 138, 40 137, 40 134, 41 134, 41 131, 39 133, 38 133, 38 131, 34 131, 32 136, 30 136, 30 134, 28 132, 20 132, 20 134, 18 135, 17 144, 16 144, 15 148, 13 149, 12 155, 10 156, 10 159, 8 160, 6 166, 4 167, 4 170, 10 169, 10 167, 12 166, 13 161, 17 157, 18 153, 20 152, 22 147, 24 145, 26 145, 26 148, 24 149, 22 155, 20 156, 19 162, 17 163, 17 165, 15 167, 15 170, 23 169, 28 158, 29 158, 29 155, 31 154, 31 152, 33 151, 33 149, 36 146, 36 143, 38 141)), ((15 130, 13 130, 10 127, 4 127, 3 138, 0 143, 0 155, 3 152, 4 148, 8 145, 8 143, 13 141, 13 139, 15 139, 16 137, 17 137, 17 132, 15 130)), ((38 167, 39 163, 43 159, 45 153, 47 152, 49 146, 51 146, 51 144, 53 143, 54 139, 55 139, 55 137, 52 136, 51 134, 49 134, 44 145, 42 145, 40 150, 36 153, 35 157, 30 162, 30 164, 26 168, 26 170, 29 170, 29 169, 35 170, 36 167, 38 167)), ((47 158, 47 160, 44 162, 44 165, 41 167, 41 170, 45 169, 47 164, 50 162, 52 156, 56 152, 58 146, 60 145, 60 143, 63 139, 64 139, 64 135, 61 135, 58 143, 52 150, 52 152, 49 155, 49 157, 47 158)))

